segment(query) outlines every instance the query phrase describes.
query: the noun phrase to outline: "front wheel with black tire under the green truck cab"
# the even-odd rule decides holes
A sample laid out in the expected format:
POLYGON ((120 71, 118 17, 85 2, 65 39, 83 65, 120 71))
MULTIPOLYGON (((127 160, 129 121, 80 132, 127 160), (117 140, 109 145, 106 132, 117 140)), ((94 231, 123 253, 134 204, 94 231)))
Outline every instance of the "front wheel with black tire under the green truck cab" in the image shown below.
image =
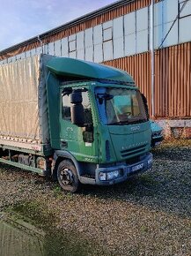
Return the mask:
POLYGON ((57 179, 62 189, 67 192, 77 192, 80 182, 77 175, 77 169, 70 160, 63 160, 58 165, 57 179))

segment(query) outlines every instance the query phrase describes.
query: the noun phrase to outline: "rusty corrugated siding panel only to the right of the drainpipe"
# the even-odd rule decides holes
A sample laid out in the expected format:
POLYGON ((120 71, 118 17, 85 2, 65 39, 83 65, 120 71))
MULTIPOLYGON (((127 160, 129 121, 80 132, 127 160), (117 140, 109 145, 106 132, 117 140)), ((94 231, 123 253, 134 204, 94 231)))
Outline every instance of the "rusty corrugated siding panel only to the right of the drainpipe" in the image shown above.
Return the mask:
POLYGON ((191 117, 191 42, 160 49, 155 55, 158 117, 191 117))

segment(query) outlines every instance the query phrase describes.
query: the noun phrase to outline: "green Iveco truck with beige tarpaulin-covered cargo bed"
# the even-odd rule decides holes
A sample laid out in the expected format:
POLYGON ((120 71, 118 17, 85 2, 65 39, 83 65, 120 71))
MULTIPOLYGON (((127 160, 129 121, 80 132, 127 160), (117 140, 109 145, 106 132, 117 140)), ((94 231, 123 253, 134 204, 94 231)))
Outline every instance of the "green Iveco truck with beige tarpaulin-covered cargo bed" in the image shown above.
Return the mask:
POLYGON ((151 169, 147 107, 127 72, 40 55, 0 66, 0 89, 0 162, 69 192, 151 169))

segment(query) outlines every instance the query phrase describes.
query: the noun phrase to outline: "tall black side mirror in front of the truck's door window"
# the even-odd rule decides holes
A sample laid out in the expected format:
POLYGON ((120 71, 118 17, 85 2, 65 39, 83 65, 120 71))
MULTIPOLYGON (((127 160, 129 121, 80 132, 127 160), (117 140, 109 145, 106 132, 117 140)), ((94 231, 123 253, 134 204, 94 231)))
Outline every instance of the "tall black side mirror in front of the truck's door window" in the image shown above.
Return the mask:
POLYGON ((70 94, 71 106, 71 123, 77 126, 84 126, 84 106, 82 104, 82 93, 74 91, 70 94))

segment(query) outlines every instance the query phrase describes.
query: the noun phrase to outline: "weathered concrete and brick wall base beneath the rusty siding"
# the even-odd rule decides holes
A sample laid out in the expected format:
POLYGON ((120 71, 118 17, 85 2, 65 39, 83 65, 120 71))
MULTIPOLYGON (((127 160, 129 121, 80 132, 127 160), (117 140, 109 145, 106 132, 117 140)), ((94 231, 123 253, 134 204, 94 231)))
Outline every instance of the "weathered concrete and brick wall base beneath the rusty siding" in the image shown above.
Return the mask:
POLYGON ((165 139, 191 139, 191 119, 155 120, 164 131, 165 139))

